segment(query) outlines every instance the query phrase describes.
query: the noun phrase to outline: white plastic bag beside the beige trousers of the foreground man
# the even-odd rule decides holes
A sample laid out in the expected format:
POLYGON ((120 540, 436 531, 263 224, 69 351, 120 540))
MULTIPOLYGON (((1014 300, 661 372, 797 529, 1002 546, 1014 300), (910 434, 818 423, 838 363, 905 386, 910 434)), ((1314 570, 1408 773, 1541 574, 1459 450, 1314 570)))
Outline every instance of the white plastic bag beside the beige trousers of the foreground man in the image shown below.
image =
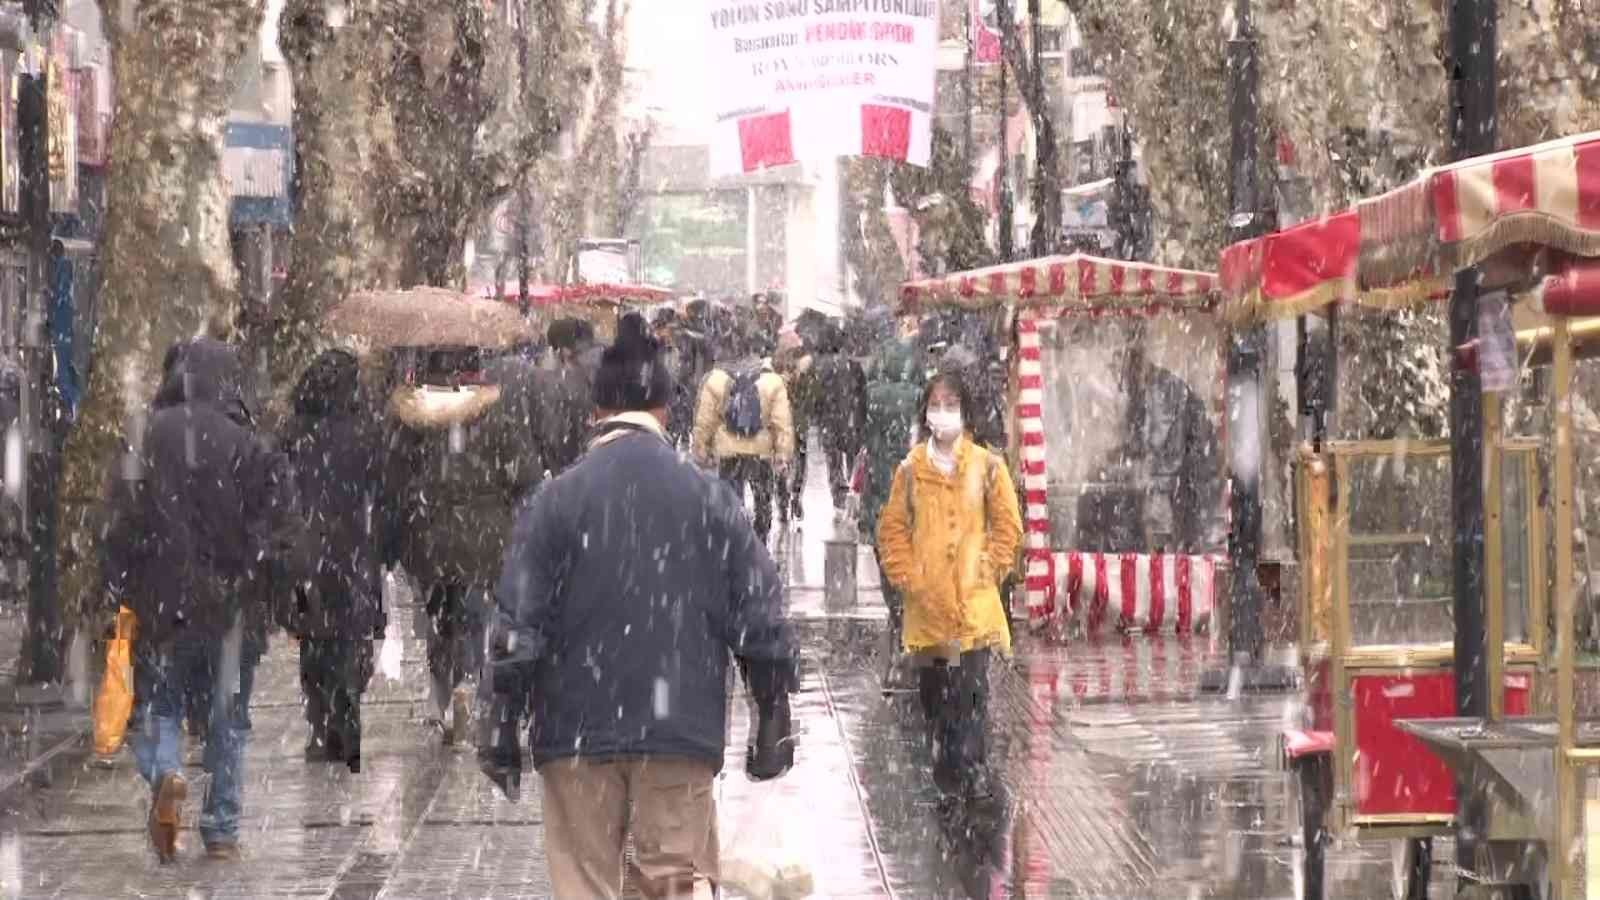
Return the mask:
POLYGON ((723 798, 722 887, 750 900, 800 900, 816 892, 802 783, 736 780, 736 798, 723 798), (730 828, 731 823, 731 828, 730 828))

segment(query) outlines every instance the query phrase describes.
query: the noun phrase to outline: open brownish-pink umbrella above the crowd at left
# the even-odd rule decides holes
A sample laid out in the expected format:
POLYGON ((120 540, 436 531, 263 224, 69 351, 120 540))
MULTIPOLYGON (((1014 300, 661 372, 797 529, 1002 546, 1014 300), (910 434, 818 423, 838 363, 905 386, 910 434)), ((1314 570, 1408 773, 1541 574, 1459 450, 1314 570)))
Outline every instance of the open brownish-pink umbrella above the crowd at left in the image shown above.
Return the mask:
POLYGON ((323 323, 376 348, 509 348, 536 338, 515 307, 446 288, 354 293, 323 323))

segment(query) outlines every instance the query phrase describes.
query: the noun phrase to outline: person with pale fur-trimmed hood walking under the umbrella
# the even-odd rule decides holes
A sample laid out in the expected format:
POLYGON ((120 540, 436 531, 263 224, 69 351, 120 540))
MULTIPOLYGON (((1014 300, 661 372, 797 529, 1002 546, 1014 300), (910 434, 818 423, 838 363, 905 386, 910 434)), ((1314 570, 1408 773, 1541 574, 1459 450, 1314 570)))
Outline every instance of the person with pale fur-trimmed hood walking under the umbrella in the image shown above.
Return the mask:
POLYGON ((488 591, 506 551, 512 511, 539 484, 544 460, 518 391, 488 384, 477 351, 434 351, 421 383, 389 397, 387 490, 397 506, 398 554, 422 585, 427 663, 445 740, 467 737, 488 591))

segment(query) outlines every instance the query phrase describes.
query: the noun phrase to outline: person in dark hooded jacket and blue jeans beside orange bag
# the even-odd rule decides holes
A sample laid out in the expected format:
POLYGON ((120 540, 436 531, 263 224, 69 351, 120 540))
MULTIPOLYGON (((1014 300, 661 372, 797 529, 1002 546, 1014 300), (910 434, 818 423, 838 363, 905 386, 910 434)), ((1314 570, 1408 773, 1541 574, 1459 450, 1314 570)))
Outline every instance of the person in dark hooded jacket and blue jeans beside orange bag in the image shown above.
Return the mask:
MULTIPOLYGON (((242 607, 270 596, 264 564, 291 565, 293 479, 256 436, 237 348, 195 340, 170 354, 138 444, 120 461, 102 572, 139 617, 133 735, 150 783, 149 831, 162 862, 178 854, 187 783, 179 730, 208 709, 211 775, 200 836, 206 855, 238 857, 243 733, 238 727, 242 607)), ((291 569, 293 572, 293 569, 291 569)))

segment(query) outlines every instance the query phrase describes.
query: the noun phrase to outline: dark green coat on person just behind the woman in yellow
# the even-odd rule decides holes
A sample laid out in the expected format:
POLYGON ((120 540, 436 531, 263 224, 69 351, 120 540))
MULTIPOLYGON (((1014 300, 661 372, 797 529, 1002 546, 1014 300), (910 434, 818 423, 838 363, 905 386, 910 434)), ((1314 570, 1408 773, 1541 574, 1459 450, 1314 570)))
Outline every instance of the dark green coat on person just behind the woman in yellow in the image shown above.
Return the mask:
POLYGON ((922 373, 910 344, 886 344, 867 381, 867 488, 861 496, 861 533, 878 533, 878 511, 888 503, 894 469, 910 453, 922 405, 922 373))

